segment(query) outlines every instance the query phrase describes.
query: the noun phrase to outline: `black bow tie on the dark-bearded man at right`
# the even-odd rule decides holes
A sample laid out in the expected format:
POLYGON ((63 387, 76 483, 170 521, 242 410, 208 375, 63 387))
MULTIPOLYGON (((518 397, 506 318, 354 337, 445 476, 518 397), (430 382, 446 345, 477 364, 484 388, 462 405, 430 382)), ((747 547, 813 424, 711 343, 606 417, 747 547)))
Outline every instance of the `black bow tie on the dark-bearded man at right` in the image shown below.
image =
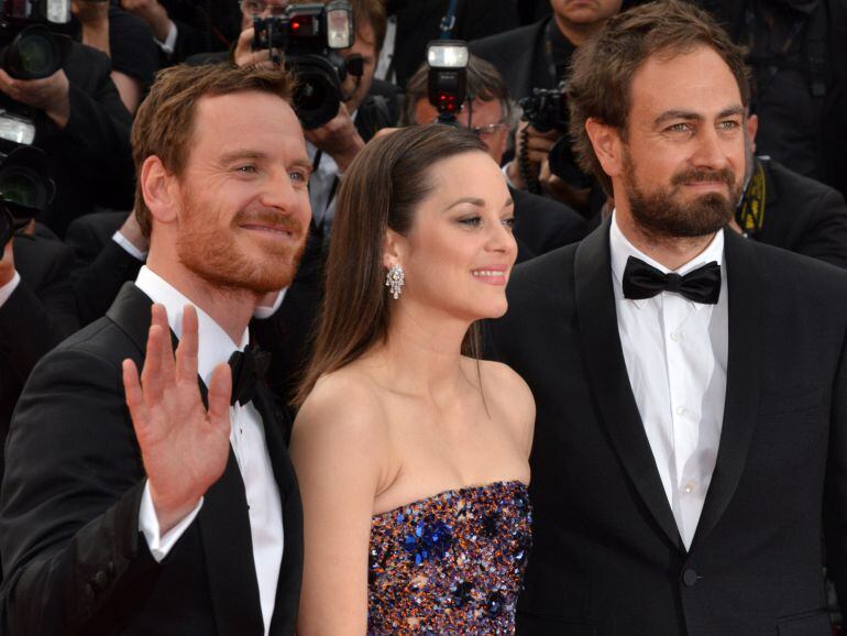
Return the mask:
POLYGON ((629 256, 624 270, 624 297, 641 300, 661 292, 674 292, 694 303, 714 305, 721 296, 721 265, 713 261, 680 276, 673 272, 662 274, 644 261, 629 256))

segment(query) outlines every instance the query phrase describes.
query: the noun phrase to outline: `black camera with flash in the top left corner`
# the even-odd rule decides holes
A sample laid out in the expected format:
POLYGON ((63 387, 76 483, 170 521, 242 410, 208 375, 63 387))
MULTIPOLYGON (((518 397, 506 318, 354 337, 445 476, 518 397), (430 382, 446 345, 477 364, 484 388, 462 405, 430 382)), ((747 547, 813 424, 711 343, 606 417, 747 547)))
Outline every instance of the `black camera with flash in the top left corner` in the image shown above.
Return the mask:
POLYGON ((41 79, 62 68, 70 39, 69 0, 0 0, 0 67, 15 79, 41 79))

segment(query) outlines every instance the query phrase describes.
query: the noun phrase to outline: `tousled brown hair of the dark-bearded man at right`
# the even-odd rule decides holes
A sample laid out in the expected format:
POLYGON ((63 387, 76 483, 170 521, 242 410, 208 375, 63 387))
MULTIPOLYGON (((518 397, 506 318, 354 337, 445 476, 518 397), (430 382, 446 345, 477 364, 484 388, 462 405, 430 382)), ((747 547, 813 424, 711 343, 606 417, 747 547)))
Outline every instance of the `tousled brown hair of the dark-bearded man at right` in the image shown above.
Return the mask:
POLYGON ((618 13, 574 53, 568 84, 574 151, 580 166, 594 174, 606 194, 612 194, 612 179, 594 153, 585 122, 593 118, 626 139, 636 70, 653 55, 682 54, 697 46, 708 46, 727 64, 746 107, 750 87, 744 50, 708 13, 686 2, 650 2, 618 13))

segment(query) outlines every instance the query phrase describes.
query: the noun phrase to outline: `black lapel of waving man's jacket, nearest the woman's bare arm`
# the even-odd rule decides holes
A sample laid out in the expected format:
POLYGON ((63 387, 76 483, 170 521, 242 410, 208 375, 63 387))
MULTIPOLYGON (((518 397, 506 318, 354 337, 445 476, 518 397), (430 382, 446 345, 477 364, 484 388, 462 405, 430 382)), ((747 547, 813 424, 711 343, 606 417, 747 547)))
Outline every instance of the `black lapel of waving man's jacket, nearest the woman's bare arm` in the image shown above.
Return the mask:
POLYGON ((271 635, 293 634, 297 621, 302 575, 302 505, 297 478, 285 446, 283 427, 287 421, 267 388, 260 387, 253 401, 262 415, 267 452, 279 486, 283 507, 283 562, 279 564, 279 580, 276 585, 276 602, 271 621, 271 635))

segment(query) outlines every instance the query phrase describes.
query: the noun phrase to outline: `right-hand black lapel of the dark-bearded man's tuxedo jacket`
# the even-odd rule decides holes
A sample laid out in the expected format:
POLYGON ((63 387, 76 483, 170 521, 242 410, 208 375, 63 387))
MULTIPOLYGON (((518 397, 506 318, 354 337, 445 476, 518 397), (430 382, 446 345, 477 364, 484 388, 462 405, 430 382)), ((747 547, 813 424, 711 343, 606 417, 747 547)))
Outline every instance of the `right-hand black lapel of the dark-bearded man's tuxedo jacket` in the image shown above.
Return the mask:
POLYGON ((715 527, 733 498, 747 460, 759 404, 758 263, 754 245, 724 231, 729 288, 729 355, 726 402, 715 472, 708 486, 692 549, 715 527))

